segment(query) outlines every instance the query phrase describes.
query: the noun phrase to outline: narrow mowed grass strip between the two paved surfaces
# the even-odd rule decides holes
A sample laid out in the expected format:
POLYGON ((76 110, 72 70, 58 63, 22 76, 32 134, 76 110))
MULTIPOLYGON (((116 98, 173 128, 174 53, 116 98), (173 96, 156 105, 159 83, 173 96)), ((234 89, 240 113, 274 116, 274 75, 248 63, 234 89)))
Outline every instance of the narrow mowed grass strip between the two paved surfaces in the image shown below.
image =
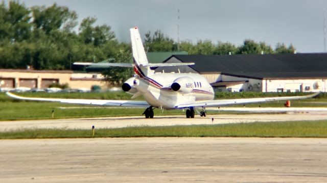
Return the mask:
POLYGON ((296 137, 327 138, 327 121, 255 122, 223 125, 141 126, 96 129, 22 129, 1 132, 0 139, 115 137, 296 137))

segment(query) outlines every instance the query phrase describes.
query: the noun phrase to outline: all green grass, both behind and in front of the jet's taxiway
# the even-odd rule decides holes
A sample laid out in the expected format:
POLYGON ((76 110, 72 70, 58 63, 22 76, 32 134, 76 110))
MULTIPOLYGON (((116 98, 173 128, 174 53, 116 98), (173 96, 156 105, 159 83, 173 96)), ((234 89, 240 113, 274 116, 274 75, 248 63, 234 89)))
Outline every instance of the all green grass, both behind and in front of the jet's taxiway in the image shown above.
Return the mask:
MULTIPOLYGON (((130 99, 124 92, 107 93, 20 93, 28 97, 51 98, 87 98, 87 99, 130 99)), ((219 93, 219 98, 250 98, 286 95, 303 95, 295 93, 219 93)), ((143 100, 143 98, 137 98, 143 100)), ((283 107, 284 101, 247 104, 247 107, 283 107)), ((327 95, 317 98, 292 101, 293 107, 327 107, 327 95)), ((231 106, 238 107, 238 106, 231 106)), ((243 107, 243 105, 239 105, 243 107)), ((79 106, 58 102, 22 101, 0 93, 0 120, 49 119, 105 116, 141 116, 144 109, 137 108, 101 108, 79 106), (84 108, 85 107, 85 108, 84 108)), ((161 113, 154 110, 155 115, 184 114, 180 110, 161 113)), ((216 112, 208 111, 208 114, 216 112)), ((221 112, 221 114, 239 114, 239 112, 221 112)), ((0 132, 0 139, 33 139, 33 138, 89 138, 90 130, 68 129, 26 129, 14 132, 0 132)), ((241 123, 226 125, 193 125, 165 127, 126 127, 113 129, 97 129, 94 137, 327 137, 327 121, 297 121, 271 123, 241 123)))

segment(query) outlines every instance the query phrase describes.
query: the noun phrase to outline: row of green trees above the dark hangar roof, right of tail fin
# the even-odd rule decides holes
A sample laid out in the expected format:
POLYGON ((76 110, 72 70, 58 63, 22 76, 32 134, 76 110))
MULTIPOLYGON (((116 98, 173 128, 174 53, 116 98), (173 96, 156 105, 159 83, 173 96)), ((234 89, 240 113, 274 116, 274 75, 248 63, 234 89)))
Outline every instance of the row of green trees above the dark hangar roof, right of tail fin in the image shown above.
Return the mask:
POLYGON ((211 40, 199 40, 196 44, 192 41, 181 41, 179 44, 172 38, 165 36, 160 30, 146 33, 145 46, 147 51, 187 51, 189 55, 228 55, 228 54, 293 54, 295 47, 290 44, 277 43, 273 49, 265 42, 255 42, 246 39, 242 45, 236 46, 229 42, 213 43, 211 40))

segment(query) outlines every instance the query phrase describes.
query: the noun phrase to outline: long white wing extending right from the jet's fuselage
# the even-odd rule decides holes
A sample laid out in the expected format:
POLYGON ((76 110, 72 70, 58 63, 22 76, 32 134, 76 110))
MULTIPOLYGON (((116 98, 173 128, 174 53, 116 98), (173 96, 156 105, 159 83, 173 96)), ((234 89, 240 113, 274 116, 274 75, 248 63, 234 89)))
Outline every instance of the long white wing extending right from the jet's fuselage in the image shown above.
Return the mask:
POLYGON ((318 93, 314 93, 311 95, 305 96, 284 96, 284 97, 266 97, 266 98, 240 98, 240 99, 218 99, 218 100, 204 100, 204 101, 196 101, 192 103, 183 103, 175 106, 177 109, 181 108, 189 108, 189 107, 220 107, 220 106, 228 106, 232 104, 244 104, 244 103, 256 103, 256 102, 266 102, 266 101, 277 101, 277 100, 294 100, 294 99, 304 99, 311 98, 318 93))

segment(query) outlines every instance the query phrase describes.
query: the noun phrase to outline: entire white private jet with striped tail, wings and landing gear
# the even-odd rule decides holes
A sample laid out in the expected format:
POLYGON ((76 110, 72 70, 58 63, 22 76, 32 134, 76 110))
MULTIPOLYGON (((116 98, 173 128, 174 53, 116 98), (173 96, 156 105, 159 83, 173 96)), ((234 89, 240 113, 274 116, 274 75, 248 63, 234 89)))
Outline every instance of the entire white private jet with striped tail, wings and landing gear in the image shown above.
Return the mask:
POLYGON ((97 100, 97 99, 68 99, 68 98, 33 98, 22 97, 10 92, 7 95, 16 99, 35 101, 56 101, 74 104, 89 104, 97 106, 121 106, 146 108, 143 115, 153 118, 154 109, 172 110, 185 109, 186 118, 194 118, 195 112, 206 116, 206 107, 222 107, 231 104, 245 104, 277 100, 292 100, 310 98, 318 95, 314 93, 306 96, 216 99, 214 89, 202 75, 198 73, 154 73, 151 67, 194 65, 194 63, 149 63, 138 28, 130 29, 133 64, 129 63, 74 63, 76 65, 99 65, 132 67, 135 74, 128 79, 122 89, 131 93, 134 99, 143 96, 145 101, 137 100, 97 100), (198 110, 195 110, 199 108, 198 110))

